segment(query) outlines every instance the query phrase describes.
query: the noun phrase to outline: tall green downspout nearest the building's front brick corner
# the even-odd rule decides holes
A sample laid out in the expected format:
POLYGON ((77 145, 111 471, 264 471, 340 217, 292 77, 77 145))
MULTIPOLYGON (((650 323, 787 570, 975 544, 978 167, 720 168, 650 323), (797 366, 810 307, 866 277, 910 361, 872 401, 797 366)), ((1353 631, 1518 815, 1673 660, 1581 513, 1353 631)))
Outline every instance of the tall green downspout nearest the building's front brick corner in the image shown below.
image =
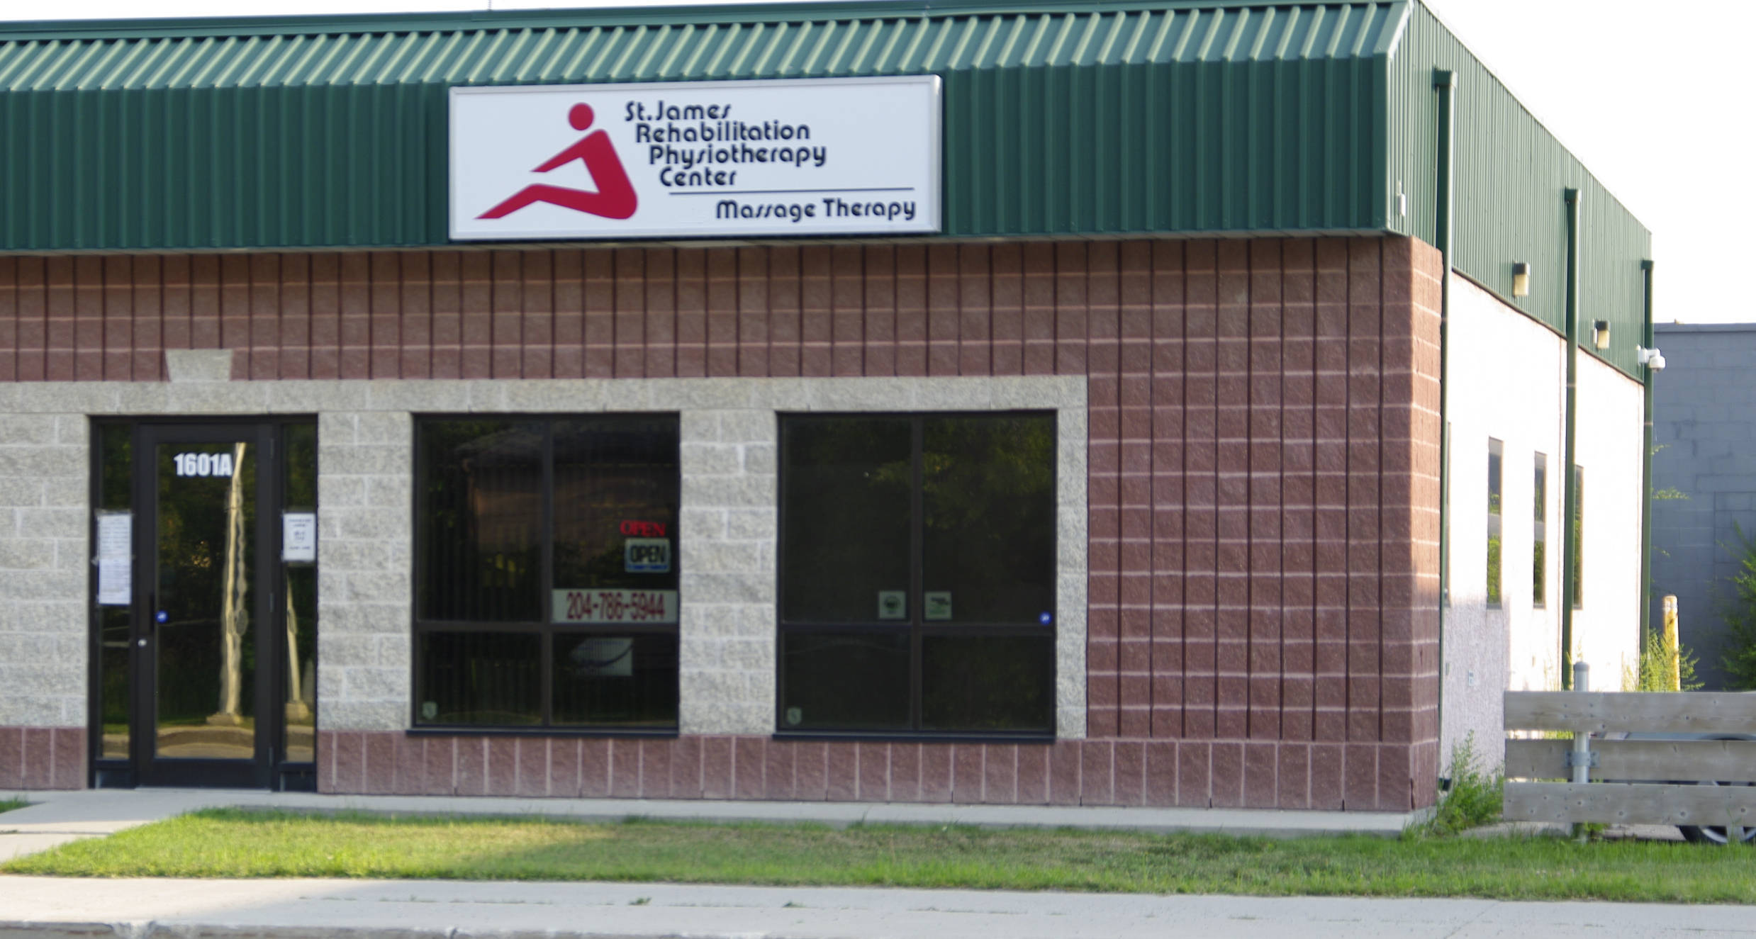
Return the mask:
MULTIPOLYGON (((1438 218, 1433 225, 1440 253, 1438 279, 1438 706, 1435 720, 1440 732, 1445 727, 1445 609, 1450 606, 1450 383, 1447 379, 1447 333, 1450 330, 1450 251, 1456 235, 1457 174, 1456 174, 1456 114, 1457 74, 1433 70, 1433 88, 1438 90, 1438 218)), ((1443 758, 1443 755, 1440 756, 1443 758)))

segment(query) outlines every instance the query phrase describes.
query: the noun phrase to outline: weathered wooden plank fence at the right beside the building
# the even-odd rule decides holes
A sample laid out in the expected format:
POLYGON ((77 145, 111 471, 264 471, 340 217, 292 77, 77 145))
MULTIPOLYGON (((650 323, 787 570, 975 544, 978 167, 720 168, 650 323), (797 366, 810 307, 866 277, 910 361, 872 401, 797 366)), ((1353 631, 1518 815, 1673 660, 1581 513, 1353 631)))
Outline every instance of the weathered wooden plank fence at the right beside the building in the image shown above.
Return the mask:
POLYGON ((1505 706, 1507 730, 1575 735, 1507 741, 1508 821, 1726 827, 1733 839, 1756 825, 1756 741, 1626 739, 1756 734, 1756 693, 1507 692, 1505 706), (1580 763, 1589 781, 1552 781, 1586 776, 1580 763))

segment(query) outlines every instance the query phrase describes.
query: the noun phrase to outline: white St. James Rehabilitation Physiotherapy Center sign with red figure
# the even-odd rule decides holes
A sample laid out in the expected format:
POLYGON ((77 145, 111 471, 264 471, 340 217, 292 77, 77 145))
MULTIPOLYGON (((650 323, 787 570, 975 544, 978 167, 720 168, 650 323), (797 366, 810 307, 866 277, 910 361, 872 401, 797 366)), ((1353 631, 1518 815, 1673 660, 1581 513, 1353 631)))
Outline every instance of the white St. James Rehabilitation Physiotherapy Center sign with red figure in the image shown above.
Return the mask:
POLYGON ((451 237, 939 230, 939 79, 451 90, 451 237))

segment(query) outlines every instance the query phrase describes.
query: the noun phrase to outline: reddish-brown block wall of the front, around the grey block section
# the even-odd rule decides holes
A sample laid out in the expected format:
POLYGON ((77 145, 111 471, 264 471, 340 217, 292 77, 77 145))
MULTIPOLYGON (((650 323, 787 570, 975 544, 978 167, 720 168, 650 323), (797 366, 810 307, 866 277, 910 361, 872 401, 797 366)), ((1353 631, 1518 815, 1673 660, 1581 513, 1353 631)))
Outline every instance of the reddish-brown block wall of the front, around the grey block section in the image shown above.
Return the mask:
POLYGON ((1410 239, 0 258, 0 381, 158 381, 167 348, 239 379, 1085 374, 1090 742, 339 734, 325 788, 474 792, 513 748, 481 785, 522 792, 522 746, 544 779, 602 753, 572 763, 616 793, 637 751, 646 795, 1407 809, 1438 762, 1438 274, 1410 239))

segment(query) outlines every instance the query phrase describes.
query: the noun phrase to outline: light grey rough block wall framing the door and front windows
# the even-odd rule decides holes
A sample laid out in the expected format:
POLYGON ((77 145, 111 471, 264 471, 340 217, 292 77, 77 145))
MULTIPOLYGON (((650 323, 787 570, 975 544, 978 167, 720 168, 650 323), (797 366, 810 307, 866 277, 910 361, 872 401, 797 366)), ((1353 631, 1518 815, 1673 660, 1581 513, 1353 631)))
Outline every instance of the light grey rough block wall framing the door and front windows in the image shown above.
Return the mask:
POLYGON ((776 414, 1057 412, 1057 735, 1085 735, 1085 379, 214 381, 0 386, 0 727, 88 723, 91 416, 318 416, 318 727, 413 711, 413 414, 681 414, 680 725, 774 727, 776 414), (77 407, 83 414, 68 414, 77 407))

